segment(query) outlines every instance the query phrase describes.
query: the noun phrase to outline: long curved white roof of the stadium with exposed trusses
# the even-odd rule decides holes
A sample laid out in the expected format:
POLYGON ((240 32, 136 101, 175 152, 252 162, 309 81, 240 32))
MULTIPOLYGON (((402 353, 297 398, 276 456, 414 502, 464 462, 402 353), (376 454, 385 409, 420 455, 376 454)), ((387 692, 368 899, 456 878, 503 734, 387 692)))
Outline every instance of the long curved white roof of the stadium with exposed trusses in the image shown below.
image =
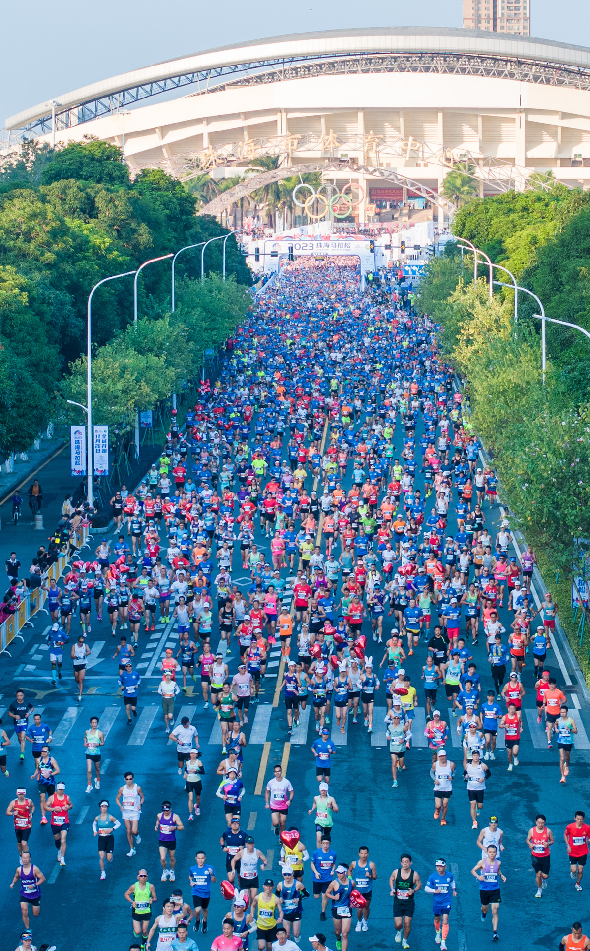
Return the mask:
MULTIPOLYGON (((178 88, 206 78, 207 87, 200 92, 214 91, 219 83, 227 82, 228 75, 248 74, 273 68, 283 61, 309 59, 337 59, 356 54, 375 53, 453 53, 466 56, 505 57, 529 61, 556 68, 568 68, 588 79, 590 49, 542 40, 535 37, 513 36, 480 30, 379 27, 333 29, 313 33, 295 33, 267 39, 239 43, 230 47, 207 49, 200 53, 166 60, 154 66, 134 69, 56 96, 53 101, 25 109, 7 119, 9 129, 32 126, 45 120, 55 103, 56 112, 64 113, 77 107, 86 107, 88 118, 105 111, 93 104, 107 102, 106 111, 157 95, 170 88, 178 88), (210 79, 213 83, 210 85, 210 79), (128 92, 125 97, 124 93, 128 92)), ((277 74, 277 80, 280 74, 277 74)), ((80 118, 78 119, 80 121, 80 118)), ((83 119, 84 121, 84 119, 83 119)))

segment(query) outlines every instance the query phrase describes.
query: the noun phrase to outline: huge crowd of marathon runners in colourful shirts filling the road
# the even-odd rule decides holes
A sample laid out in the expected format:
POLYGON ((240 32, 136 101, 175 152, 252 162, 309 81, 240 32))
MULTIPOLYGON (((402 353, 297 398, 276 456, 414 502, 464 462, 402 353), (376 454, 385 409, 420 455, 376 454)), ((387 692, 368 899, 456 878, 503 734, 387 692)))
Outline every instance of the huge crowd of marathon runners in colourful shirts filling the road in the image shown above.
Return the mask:
MULTIPOLYGON (((104 631, 106 623, 128 726, 141 702, 138 646, 158 621, 172 622, 171 637, 178 636, 156 670, 162 672, 162 729, 177 745, 186 811, 181 818, 168 799, 158 808, 150 804, 161 881, 175 884, 165 889, 162 904, 160 887, 158 896, 147 869, 139 870, 124 894, 132 948, 194 951, 189 931, 207 933, 216 882, 231 904, 213 951, 248 951, 249 941, 257 941, 259 951, 295 951, 302 915, 317 914, 312 902, 306 905, 311 895, 320 922, 330 908, 337 951, 347 951, 352 925, 356 932, 369 930, 371 900, 384 902, 389 895, 394 941, 407 948, 414 909, 426 901, 416 899, 420 891, 431 901, 434 939, 447 947, 458 889, 450 869, 452 842, 447 856, 420 870, 409 851, 392 871, 377 870, 362 835, 354 846, 357 857, 352 859, 350 845, 345 860, 342 845, 336 852, 333 825, 342 805, 334 722, 341 734, 364 730, 368 742, 373 730, 385 728, 393 789, 406 780, 412 746, 429 747, 431 757, 421 774, 412 770, 412 781, 432 782, 429 821, 447 825, 450 807, 458 825, 471 824, 471 874, 482 922, 491 923, 494 941, 504 883, 509 889, 510 881, 490 777, 495 774, 497 782, 499 770, 518 769, 526 690, 536 691, 548 749, 557 748, 556 783, 567 782, 577 724, 547 666, 558 606, 543 592, 535 607, 534 553, 514 553, 507 520, 494 528, 496 476, 485 464, 453 374, 439 357, 437 328, 413 312, 411 287, 401 280, 390 287, 391 281, 375 281, 361 293, 358 271, 347 259, 301 259, 285 268, 238 328, 219 379, 203 384, 185 426, 174 417, 158 464, 135 494, 114 495, 116 540, 105 539, 92 562, 74 561, 63 585, 47 585, 52 683, 62 680, 66 656, 76 699, 83 702, 90 635, 97 624, 104 631), (261 545, 255 540, 260 534, 261 545), (246 591, 236 580, 244 574, 250 578, 246 591), (311 835, 289 823, 290 805, 301 790, 281 767, 274 767, 265 787, 265 807, 280 842, 279 881, 269 875, 265 852, 241 822, 242 763, 248 755, 243 728, 260 685, 269 682, 268 656, 275 645, 286 734, 293 737, 309 717, 318 783, 308 810, 314 817, 311 835), (204 805, 201 799, 198 727, 187 717, 174 726, 175 697, 190 689, 189 678, 199 678, 200 708, 211 707, 219 717, 216 797, 226 821, 220 836, 225 868, 216 870, 219 863, 209 864, 197 851, 188 882, 192 906, 176 885, 177 833, 201 814, 207 823, 218 823, 221 810, 214 796, 204 805), (385 724, 374 720, 381 697, 385 724), (452 731, 459 755, 447 748, 452 731), (458 796, 451 800, 453 792, 458 796), (481 821, 485 800, 490 814, 481 821)), ((8 716, 21 760, 30 745, 35 768, 29 786, 38 787, 37 798, 18 786, 7 809, 20 857, 10 887, 20 892, 26 929, 21 946, 29 951, 29 915, 39 915, 45 882, 28 850, 33 815, 36 822, 40 813, 41 824, 50 825, 58 862, 65 865, 73 805, 51 750, 51 729, 23 691, 8 716)), ((5 730, 1 739, 10 746, 5 730)), ((93 785, 101 788, 100 718, 89 719, 84 745, 90 793, 93 785)), ((7 755, 0 756, 7 777, 8 765, 7 755)), ((127 856, 136 855, 143 803, 142 786, 130 771, 112 801, 99 800, 92 829, 101 879, 120 825, 127 856)), ((551 847, 566 852, 573 887, 580 891, 589 842, 582 811, 554 831, 539 813, 525 841, 509 847, 530 849, 541 899, 551 847)), ((324 951, 329 939, 317 931, 309 941, 324 951)), ((590 941, 575 922, 561 945, 573 951, 590 941)))

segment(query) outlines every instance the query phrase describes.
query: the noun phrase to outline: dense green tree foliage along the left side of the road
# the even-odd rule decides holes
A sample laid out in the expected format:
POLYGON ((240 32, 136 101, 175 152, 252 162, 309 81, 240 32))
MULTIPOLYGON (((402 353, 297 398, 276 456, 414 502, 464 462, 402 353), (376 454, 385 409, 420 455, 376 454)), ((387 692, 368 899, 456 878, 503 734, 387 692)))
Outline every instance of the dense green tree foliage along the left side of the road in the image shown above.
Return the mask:
MULTIPOLYGON (((26 144, 0 163, 0 455, 27 448, 47 424, 60 375, 70 364, 73 376, 62 391, 80 395, 86 301, 95 283, 148 258, 228 234, 214 218, 198 217, 198 206, 195 195, 160 170, 145 170, 132 181, 120 149, 93 139, 56 149, 26 144), (18 333, 14 321, 20 321, 18 333)), ((138 280, 140 316, 154 326, 141 321, 135 342, 128 331, 132 279, 110 281, 96 293, 92 340, 96 402, 105 399, 104 421, 126 426, 134 408, 167 396, 194 372, 202 348, 224 339, 222 331, 237 312, 234 298, 243 297, 251 278, 232 236, 226 243, 228 281, 219 290, 222 244, 211 243, 204 256, 215 292, 204 290, 209 280, 200 285, 200 248, 177 262, 179 286, 199 284, 193 292, 199 302, 185 308, 194 311, 195 326, 200 321, 195 343, 187 328, 165 316, 169 260, 145 268, 138 280)))

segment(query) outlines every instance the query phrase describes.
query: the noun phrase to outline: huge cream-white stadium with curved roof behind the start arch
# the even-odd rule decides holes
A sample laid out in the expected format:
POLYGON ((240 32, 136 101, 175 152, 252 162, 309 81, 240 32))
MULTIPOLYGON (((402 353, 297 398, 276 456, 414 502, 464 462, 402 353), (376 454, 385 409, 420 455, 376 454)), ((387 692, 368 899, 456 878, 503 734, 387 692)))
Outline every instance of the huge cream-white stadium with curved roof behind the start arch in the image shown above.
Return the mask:
POLYGON ((590 49, 466 29, 339 29, 212 49, 76 89, 7 120, 23 137, 96 136, 132 170, 181 179, 278 168, 219 195, 321 170, 358 186, 357 221, 400 204, 452 212, 439 195, 460 165, 480 195, 535 173, 590 185, 590 49))

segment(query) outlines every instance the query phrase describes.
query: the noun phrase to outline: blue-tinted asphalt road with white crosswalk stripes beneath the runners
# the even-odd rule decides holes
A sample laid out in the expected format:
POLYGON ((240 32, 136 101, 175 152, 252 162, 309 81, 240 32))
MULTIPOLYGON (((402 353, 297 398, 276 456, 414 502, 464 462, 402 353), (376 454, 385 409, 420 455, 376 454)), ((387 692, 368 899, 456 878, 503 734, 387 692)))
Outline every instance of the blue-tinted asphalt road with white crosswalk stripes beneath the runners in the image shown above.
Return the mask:
MULTIPOLYGON (((396 431, 396 446, 401 449, 401 434, 396 431)), ((67 465, 66 456, 58 457, 67 465)), ((43 473, 41 473, 43 476, 43 473)), ((64 469, 62 483, 69 481, 64 469)), ((422 488, 420 476, 417 486, 422 488)), ((492 531, 498 509, 491 512, 485 506, 487 527, 492 531)), ((452 519, 450 527, 454 528, 452 519)), ((98 543, 98 542, 97 542, 98 543)), ((257 543, 264 550, 268 541, 259 536, 257 543)), ((239 553, 235 559, 234 575, 241 586, 247 587, 239 563, 239 553)), ((508 628, 507 611, 502 612, 504 626, 508 628)), ((74 621, 73 627, 77 624, 74 621)), ((434 624, 434 621, 432 621, 434 624)), ((385 628, 389 632, 391 619, 386 618, 385 628)), ((53 744, 53 756, 61 767, 62 777, 67 782, 67 792, 73 801, 71 827, 68 834, 67 866, 60 868, 55 861, 55 847, 49 826, 39 825, 38 794, 29 779, 33 771, 32 756, 27 751, 25 764, 18 759, 18 748, 9 749, 10 779, 0 776, 0 788, 3 800, 8 805, 14 796, 16 786, 24 784, 37 806, 33 819, 33 829, 29 840, 33 861, 48 878, 42 887, 42 911, 33 924, 34 943, 43 941, 55 943, 58 951, 78 947, 82 943, 91 944, 93 951, 112 951, 122 948, 124 951, 132 940, 132 928, 129 905, 124 902, 125 889, 135 881, 138 869, 144 865, 154 883, 159 899, 170 890, 168 883, 160 881, 161 868, 158 855, 158 835, 154 831, 156 813, 162 798, 170 798, 174 809, 185 822, 185 830, 178 834, 176 886, 183 890, 190 902, 188 868, 194 862, 197 848, 204 848, 207 862, 217 872, 218 884, 213 887, 210 905, 209 932, 190 937, 195 938, 200 951, 208 948, 210 940, 220 933, 222 916, 229 909, 219 892, 219 881, 224 878, 223 853, 219 848, 219 837, 225 828, 221 802, 215 798, 218 778, 215 770, 221 759, 219 727, 215 714, 209 708, 202 709, 200 684, 193 685, 189 680, 188 692, 177 699, 177 719, 184 713, 199 729, 202 760, 205 767, 203 795, 200 819, 186 823, 186 794, 183 791, 181 777, 177 772, 175 747, 168 744, 164 734, 162 709, 157 694, 160 676, 154 670, 166 644, 177 643, 177 637, 171 626, 157 626, 151 636, 140 635, 138 667, 143 675, 140 692, 139 718, 131 727, 127 727, 124 709, 117 689, 117 662, 111 660, 114 650, 107 622, 97 623, 92 618, 92 633, 89 644, 92 648, 92 666, 86 674, 86 690, 82 704, 75 702, 74 680, 69 660, 65 662, 66 675, 58 688, 49 683, 48 650, 45 633, 48 629, 48 616, 38 615, 33 629, 26 632, 25 643, 12 651, 12 657, 2 658, 0 671, 0 706, 6 721, 9 719, 4 710, 10 704, 17 686, 26 689, 26 696, 38 708, 43 708, 43 719, 53 729, 56 736, 53 744), (185 709, 186 708, 186 709, 185 709), (110 725, 105 748, 103 750, 104 779, 100 793, 93 790, 85 793, 86 760, 83 747, 83 733, 88 726, 90 715, 101 718, 101 728, 105 722, 110 725), (115 834, 115 852, 113 863, 108 867, 105 882, 99 881, 99 864, 96 840, 92 835, 92 821, 99 812, 98 802, 106 796, 111 803, 110 811, 118 815, 115 794, 123 784, 124 770, 132 769, 136 779, 143 787, 145 804, 140 829, 143 835, 138 846, 137 856, 126 857, 127 844, 124 829, 115 834)), ((464 627, 463 627, 463 630, 464 627)), ((367 634, 368 650, 373 655, 371 640, 371 622, 365 621, 363 632, 367 634)), ((485 660, 485 638, 473 649, 478 670, 482 674, 484 689, 491 685, 485 660)), ((212 638, 217 645, 217 637, 212 638)), ((314 756, 311 744, 315 733, 312 725, 300 729, 289 743, 285 708, 282 698, 274 706, 276 673, 278 671, 278 649, 271 653, 268 674, 260 694, 258 707, 251 708, 250 723, 245 728, 249 745, 244 753, 243 782, 246 795, 242 801, 242 827, 248 827, 256 837, 257 847, 267 854, 269 867, 277 882, 280 878, 279 844, 273 835, 270 816, 264 809, 261 795, 255 794, 260 758, 270 743, 267 764, 264 770, 265 782, 272 777, 272 767, 276 763, 287 762, 287 775, 295 786, 295 800, 290 810, 289 823, 296 825, 302 841, 310 852, 314 848, 313 817, 308 816, 313 796, 317 792, 315 781, 314 756), (274 665, 274 666, 273 666, 274 665), (304 735, 305 734, 305 735, 304 735), (295 742, 298 740, 299 742, 295 742)), ((418 689, 420 711, 424 716, 424 695, 420 686, 420 671, 425 663, 426 648, 420 648, 405 664, 412 683, 418 689)), ((576 919, 584 921, 588 904, 586 888, 590 880, 582 881, 583 891, 576 893, 569 877, 569 865, 562 841, 563 828, 573 819, 576 808, 585 809, 590 815, 590 792, 587 783, 590 764, 590 711, 585 704, 580 689, 567 686, 563 670, 555 654, 550 655, 549 667, 558 677, 558 684, 571 700, 570 709, 574 712, 579 725, 585 728, 577 741, 572 755, 572 767, 567 785, 559 783, 558 753, 554 748, 548 751, 544 735, 536 728, 536 707, 533 690, 532 659, 527 660, 523 672, 523 684, 526 689, 524 698, 525 731, 521 746, 520 766, 514 772, 506 771, 504 751, 500 751, 496 762, 490 764, 492 775, 487 782, 485 806, 481 819, 491 813, 500 817, 504 829, 505 851, 503 869, 507 883, 503 887, 501 905, 500 938, 504 944, 509 942, 527 948, 554 948, 559 937, 570 930, 570 924, 576 919), (573 710, 574 707, 580 707, 573 710), (534 823, 538 810, 544 811, 547 825, 553 830, 556 845, 552 853, 552 869, 549 886, 541 900, 536 900, 534 875, 530 864, 530 853, 525 845, 526 833, 534 823), (525 936, 525 938, 523 938, 525 936)), ((230 675, 237 672, 237 650, 229 662, 230 675)), ((439 704, 443 702, 444 689, 439 689, 439 704)), ((370 928, 367 934, 355 934, 352 928, 351 948, 390 948, 393 941, 391 900, 387 880, 390 871, 399 862, 400 853, 409 851, 413 857, 414 868, 426 882, 430 872, 434 871, 435 859, 443 856, 448 868, 453 872, 458 886, 458 896, 453 902, 450 918, 449 948, 459 951, 485 946, 491 941, 490 923, 480 922, 478 884, 470 875, 470 870, 478 861, 480 854, 475 846, 477 831, 471 830, 466 789, 460 775, 455 779, 455 791, 448 810, 447 827, 441 827, 432 818, 432 782, 428 775, 430 753, 423 743, 415 743, 406 756, 407 768, 399 773, 399 787, 391 788, 390 754, 385 744, 383 731, 379 729, 377 709, 385 712, 385 691, 377 694, 375 710, 375 730, 367 734, 362 725, 349 728, 346 737, 336 737, 339 742, 333 757, 331 793, 339 805, 340 811, 335 817, 333 828, 333 847, 338 861, 349 864, 357 856, 358 846, 368 844, 370 858, 377 867, 378 881, 373 887, 370 928)), ((444 707, 446 712, 446 705, 444 707)), ((444 713, 445 715, 445 713, 444 713)), ((448 719, 448 717, 446 717, 448 719)), ((419 721, 416 721, 417 723, 419 721)), ((313 723, 313 713, 312 713, 313 723)), ((453 730, 451 722, 451 732, 453 730)), ((542 728, 541 728, 542 729, 542 728)), ((414 728, 414 737, 419 741, 419 729, 414 728)), ((12 735, 11 729, 9 734, 12 735)), ((451 744, 447 744, 450 749, 451 744)), ((454 750, 455 761, 461 762, 461 750, 454 750)), ((451 757, 452 758, 452 757, 451 757)), ((460 774, 461 770, 459 770, 460 774)), ((480 822, 480 827, 485 822, 480 822)), ((2 903, 6 937, 3 946, 10 951, 18 944, 21 930, 18 895, 9 890, 13 870, 18 864, 18 853, 14 840, 12 820, 4 819, 5 834, 0 842, 0 860, 5 882, 2 903)), ((311 890, 311 871, 306 864, 305 883, 311 890)), ((307 938, 316 930, 324 930, 329 944, 334 946, 332 922, 319 921, 319 904, 312 898, 304 902, 301 946, 307 946, 307 938)), ((587 920, 587 918, 586 918, 587 920)), ((586 931, 588 927, 586 926, 586 931)), ((431 899, 422 893, 416 899, 416 915, 410 936, 410 946, 434 947, 434 929, 432 926, 431 899)), ((154 946, 154 945, 153 945, 154 946)), ((252 946, 252 942, 251 942, 252 946)))

